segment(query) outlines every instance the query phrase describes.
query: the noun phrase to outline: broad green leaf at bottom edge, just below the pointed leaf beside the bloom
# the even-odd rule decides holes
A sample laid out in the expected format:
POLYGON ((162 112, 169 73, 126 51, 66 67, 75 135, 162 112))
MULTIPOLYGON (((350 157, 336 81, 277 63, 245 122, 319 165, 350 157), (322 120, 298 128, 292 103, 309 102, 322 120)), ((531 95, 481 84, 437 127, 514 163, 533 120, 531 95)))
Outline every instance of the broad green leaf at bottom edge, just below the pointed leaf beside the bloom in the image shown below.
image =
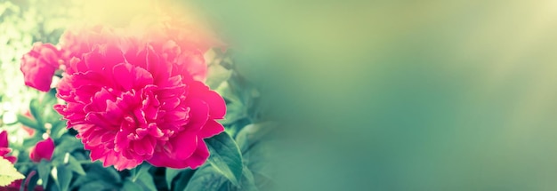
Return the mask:
POLYGON ((195 171, 184 191, 219 190, 226 183, 227 179, 213 166, 204 165, 195 171))

